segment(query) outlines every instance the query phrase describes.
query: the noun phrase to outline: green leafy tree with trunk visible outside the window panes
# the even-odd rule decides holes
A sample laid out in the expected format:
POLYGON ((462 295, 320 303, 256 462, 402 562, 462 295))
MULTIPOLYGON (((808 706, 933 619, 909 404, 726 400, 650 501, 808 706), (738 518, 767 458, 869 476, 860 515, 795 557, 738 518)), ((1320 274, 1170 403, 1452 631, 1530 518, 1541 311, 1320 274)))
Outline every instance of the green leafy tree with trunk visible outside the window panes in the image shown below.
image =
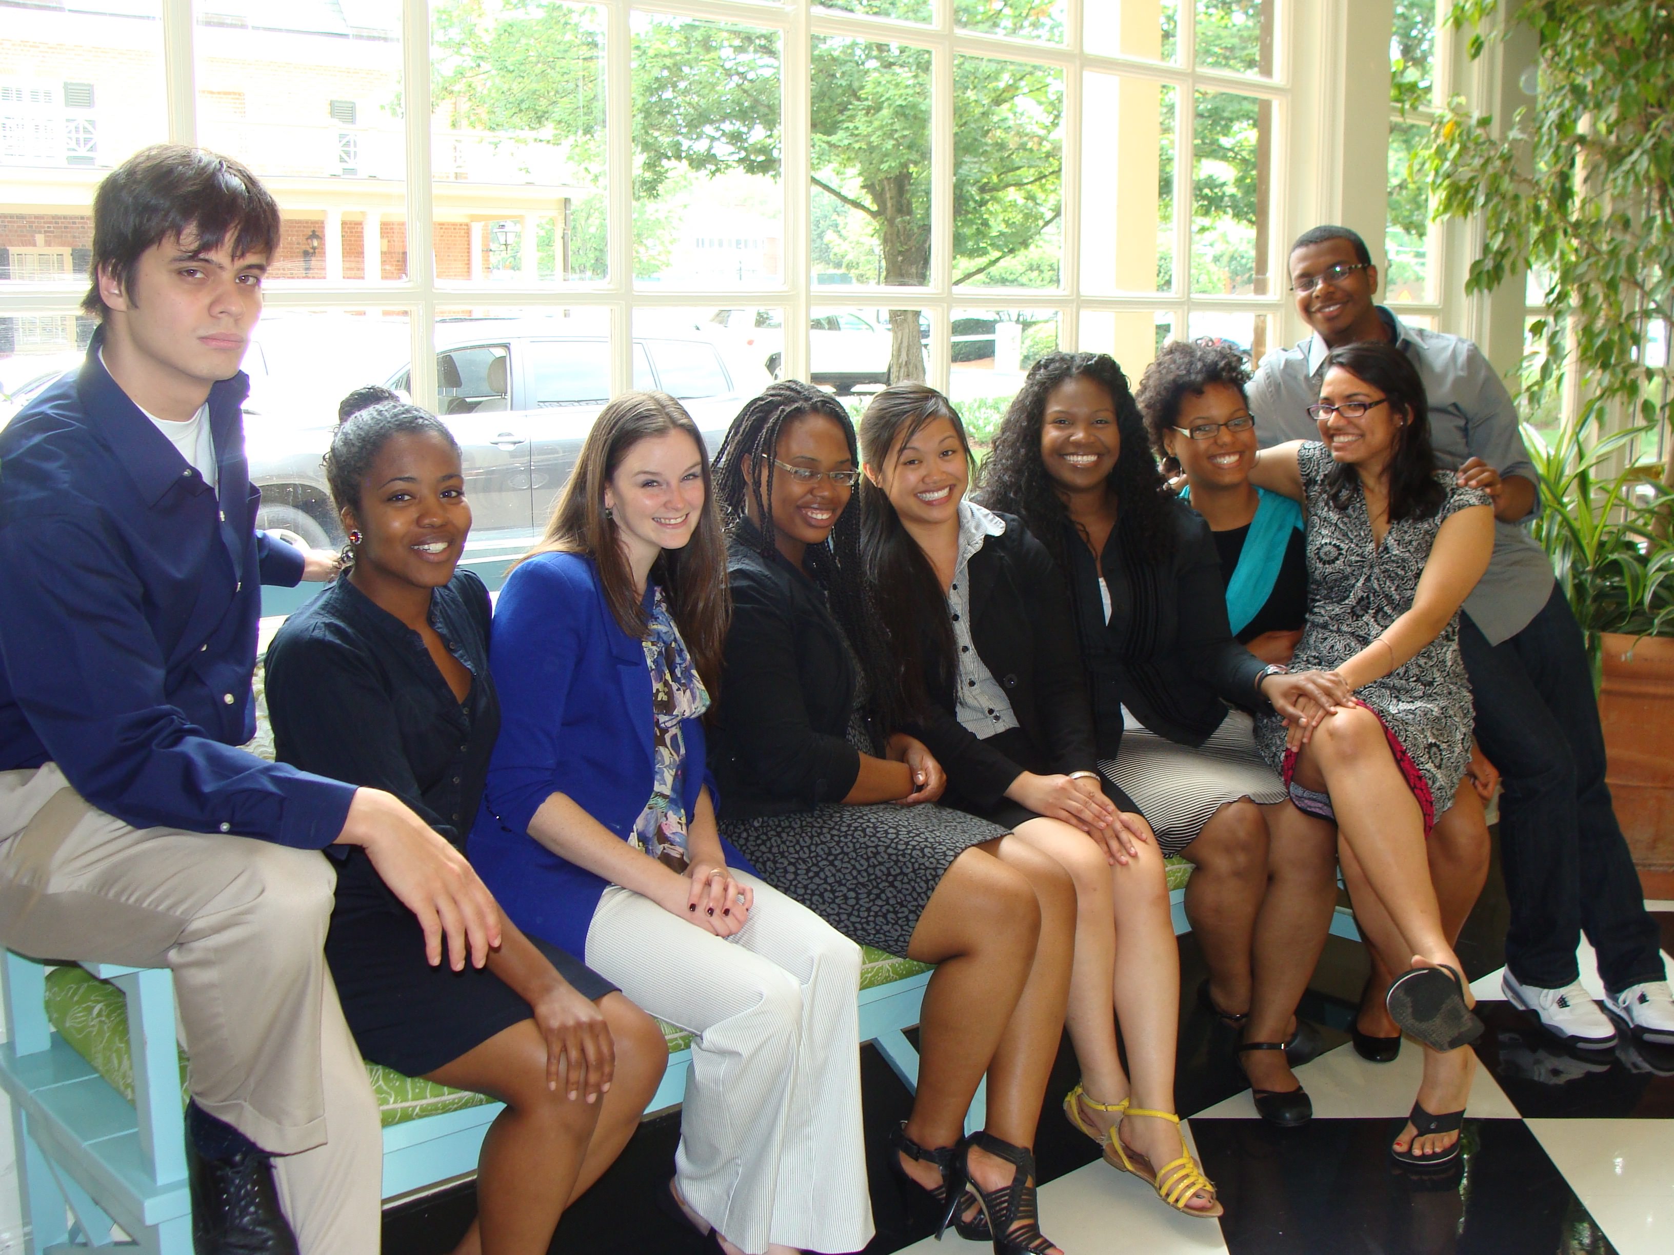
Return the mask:
MULTIPOLYGON (((961 20, 1050 30, 1038 0, 961 0, 961 20), (1045 23, 1045 25, 1043 25, 1045 23)), ((993 25, 984 28, 996 28, 993 25)), ((437 8, 434 94, 484 131, 567 144, 598 169, 604 141, 603 33, 557 0, 459 0, 437 8)), ((780 169, 778 33, 711 22, 648 23, 634 37, 634 197, 678 171, 780 169)), ((1061 79, 1018 62, 963 57, 956 137, 961 278, 1040 241, 1061 211, 1061 79), (996 124, 1003 120, 1003 124, 996 124)), ((929 274, 929 69, 922 50, 819 40, 812 75, 812 167, 822 189, 874 224, 884 281, 929 274), (921 69, 922 67, 922 69, 921 69)), ((922 378, 917 318, 892 311, 894 378, 922 378)))

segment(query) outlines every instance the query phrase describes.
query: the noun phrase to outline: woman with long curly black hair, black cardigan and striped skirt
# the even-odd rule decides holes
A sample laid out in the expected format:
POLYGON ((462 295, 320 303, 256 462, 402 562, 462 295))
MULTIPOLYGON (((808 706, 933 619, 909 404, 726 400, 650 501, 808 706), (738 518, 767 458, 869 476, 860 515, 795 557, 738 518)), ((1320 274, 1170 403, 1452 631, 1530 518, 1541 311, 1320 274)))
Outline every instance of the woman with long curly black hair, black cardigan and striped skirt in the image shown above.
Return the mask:
POLYGON ((1018 514, 1066 574, 1100 770, 1162 850, 1194 863, 1185 907, 1209 962, 1199 994, 1244 1026, 1262 1114, 1302 1123, 1312 1109, 1286 1056, 1306 1054, 1292 1012, 1324 940, 1336 852, 1286 798, 1245 711, 1271 701, 1299 718, 1301 694, 1321 708, 1348 694, 1232 639, 1214 537, 1163 487, 1108 355, 1051 353, 1030 370, 981 499, 1018 514))

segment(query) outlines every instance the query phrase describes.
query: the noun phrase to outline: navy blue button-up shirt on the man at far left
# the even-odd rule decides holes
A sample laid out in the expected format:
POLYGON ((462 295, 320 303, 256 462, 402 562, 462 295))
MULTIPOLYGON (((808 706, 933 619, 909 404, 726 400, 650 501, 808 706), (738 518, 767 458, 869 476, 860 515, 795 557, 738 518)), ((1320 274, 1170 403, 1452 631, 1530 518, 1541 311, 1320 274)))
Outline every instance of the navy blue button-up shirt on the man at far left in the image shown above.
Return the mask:
POLYGON ((236 748, 256 731, 261 584, 303 574, 254 527, 249 380, 209 390, 218 495, 100 340, 0 432, 0 771, 57 763, 137 828, 323 848, 355 790, 236 748))

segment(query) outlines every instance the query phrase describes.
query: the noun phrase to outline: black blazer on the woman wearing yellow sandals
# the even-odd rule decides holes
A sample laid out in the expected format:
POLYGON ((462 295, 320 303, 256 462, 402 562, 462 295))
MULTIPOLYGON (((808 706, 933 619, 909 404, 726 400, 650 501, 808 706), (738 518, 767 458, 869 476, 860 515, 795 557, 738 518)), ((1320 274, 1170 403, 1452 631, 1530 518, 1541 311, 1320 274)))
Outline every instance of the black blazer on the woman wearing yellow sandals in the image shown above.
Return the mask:
POLYGON ((996 807, 1023 771, 1098 770, 1063 576, 1016 515, 999 517, 1006 530, 984 537, 966 571, 971 639, 1006 691, 1033 761, 1016 761, 959 723, 958 666, 941 678, 926 676, 936 708, 912 730, 947 771, 949 788, 983 810, 996 807))

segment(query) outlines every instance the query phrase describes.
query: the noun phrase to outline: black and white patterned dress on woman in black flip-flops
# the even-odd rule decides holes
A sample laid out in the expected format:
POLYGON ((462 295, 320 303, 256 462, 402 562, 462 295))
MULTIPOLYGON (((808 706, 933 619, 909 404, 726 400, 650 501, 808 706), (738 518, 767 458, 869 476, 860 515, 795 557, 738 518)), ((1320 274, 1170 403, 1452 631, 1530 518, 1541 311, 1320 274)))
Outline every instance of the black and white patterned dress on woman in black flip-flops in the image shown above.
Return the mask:
MULTIPOLYGON (((1441 509, 1430 519, 1401 519, 1379 546, 1358 484, 1348 509, 1333 504, 1326 487, 1334 465, 1329 448, 1307 442, 1296 464, 1307 502, 1307 619, 1291 669, 1331 669, 1411 609, 1441 524, 1470 505, 1488 505, 1490 499, 1480 489, 1456 487, 1450 472, 1438 470, 1436 480, 1448 492, 1441 509)), ((1458 634, 1455 614, 1415 658, 1354 693, 1383 720, 1396 761, 1425 810, 1426 828, 1453 805, 1470 765, 1473 709, 1458 634)), ((1261 715, 1256 740, 1262 756, 1289 781, 1292 756, 1284 746, 1284 721, 1272 711, 1261 715)))

